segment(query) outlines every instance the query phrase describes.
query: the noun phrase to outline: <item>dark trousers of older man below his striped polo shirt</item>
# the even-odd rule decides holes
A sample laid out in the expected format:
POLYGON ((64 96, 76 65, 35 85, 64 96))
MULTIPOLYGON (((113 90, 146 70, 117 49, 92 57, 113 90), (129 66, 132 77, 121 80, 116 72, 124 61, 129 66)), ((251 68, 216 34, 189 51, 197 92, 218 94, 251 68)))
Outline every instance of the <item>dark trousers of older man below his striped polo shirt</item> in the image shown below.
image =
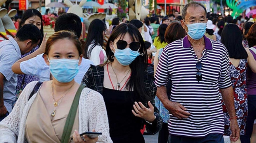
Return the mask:
POLYGON ((224 143, 224 138, 221 134, 209 134, 201 138, 170 135, 169 143, 224 143))

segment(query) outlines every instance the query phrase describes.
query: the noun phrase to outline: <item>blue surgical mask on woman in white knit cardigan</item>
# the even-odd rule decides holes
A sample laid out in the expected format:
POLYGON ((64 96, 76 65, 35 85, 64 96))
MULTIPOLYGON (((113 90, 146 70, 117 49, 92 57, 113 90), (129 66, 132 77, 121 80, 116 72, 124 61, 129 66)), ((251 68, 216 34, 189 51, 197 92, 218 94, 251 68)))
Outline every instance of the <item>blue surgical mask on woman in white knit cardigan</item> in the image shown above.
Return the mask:
POLYGON ((50 72, 59 82, 71 82, 78 74, 78 60, 74 59, 52 59, 50 62, 50 72))

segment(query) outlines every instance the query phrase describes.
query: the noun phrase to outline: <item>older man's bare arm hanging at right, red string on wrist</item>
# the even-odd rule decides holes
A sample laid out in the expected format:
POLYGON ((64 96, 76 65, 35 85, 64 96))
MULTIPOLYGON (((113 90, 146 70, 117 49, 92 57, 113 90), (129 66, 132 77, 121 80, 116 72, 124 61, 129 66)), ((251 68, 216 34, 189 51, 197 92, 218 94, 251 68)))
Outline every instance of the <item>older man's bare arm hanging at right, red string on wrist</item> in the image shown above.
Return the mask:
POLYGON ((232 86, 230 86, 225 89, 220 89, 220 92, 230 116, 230 129, 232 132, 232 135, 230 135, 230 140, 235 142, 240 136, 240 129, 237 124, 237 117, 235 114, 234 91, 232 86))

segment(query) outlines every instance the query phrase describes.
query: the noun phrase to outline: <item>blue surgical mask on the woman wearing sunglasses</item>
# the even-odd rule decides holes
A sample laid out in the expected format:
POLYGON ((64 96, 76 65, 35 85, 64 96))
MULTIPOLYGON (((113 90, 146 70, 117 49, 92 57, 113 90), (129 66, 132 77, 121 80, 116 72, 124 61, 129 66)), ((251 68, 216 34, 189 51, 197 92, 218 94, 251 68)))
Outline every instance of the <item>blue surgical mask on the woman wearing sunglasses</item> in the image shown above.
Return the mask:
POLYGON ((123 50, 116 49, 114 56, 118 62, 123 66, 128 66, 132 61, 138 57, 140 53, 138 51, 131 50, 130 48, 125 48, 123 50))

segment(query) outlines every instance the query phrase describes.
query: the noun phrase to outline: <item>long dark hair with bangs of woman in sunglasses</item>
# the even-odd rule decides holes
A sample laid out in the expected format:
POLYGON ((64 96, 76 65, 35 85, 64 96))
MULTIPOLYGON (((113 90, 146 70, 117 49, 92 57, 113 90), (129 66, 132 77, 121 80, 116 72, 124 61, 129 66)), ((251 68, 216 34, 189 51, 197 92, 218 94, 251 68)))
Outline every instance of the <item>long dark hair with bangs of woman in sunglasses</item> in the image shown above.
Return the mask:
POLYGON ((131 68, 131 77, 128 83, 126 84, 127 88, 131 91, 134 89, 135 95, 141 98, 142 101, 147 102, 149 100, 149 93, 146 91, 145 84, 144 84, 144 72, 147 69, 147 50, 145 47, 144 40, 142 35, 140 34, 139 30, 132 24, 120 24, 116 27, 116 29, 112 32, 107 41, 106 46, 106 54, 107 54, 107 61, 104 65, 107 64, 108 61, 113 62, 114 59, 111 59, 114 56, 114 53, 110 49, 110 42, 114 42, 119 36, 121 39, 128 33, 133 41, 138 41, 141 44, 141 47, 138 52, 144 53, 143 56, 138 56, 136 59, 131 62, 129 65, 131 68))

